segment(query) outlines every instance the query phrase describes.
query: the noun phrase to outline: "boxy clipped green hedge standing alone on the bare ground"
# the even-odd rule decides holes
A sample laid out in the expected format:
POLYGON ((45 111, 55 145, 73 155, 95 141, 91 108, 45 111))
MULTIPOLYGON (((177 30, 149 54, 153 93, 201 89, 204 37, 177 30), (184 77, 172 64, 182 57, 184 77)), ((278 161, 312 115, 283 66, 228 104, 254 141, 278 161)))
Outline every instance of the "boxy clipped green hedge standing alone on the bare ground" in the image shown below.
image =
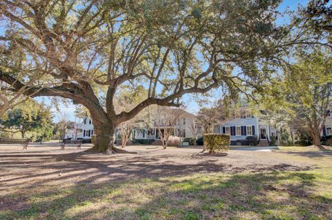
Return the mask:
POLYGON ((230 148, 230 135, 228 134, 203 134, 203 140, 210 154, 227 151, 230 148))

